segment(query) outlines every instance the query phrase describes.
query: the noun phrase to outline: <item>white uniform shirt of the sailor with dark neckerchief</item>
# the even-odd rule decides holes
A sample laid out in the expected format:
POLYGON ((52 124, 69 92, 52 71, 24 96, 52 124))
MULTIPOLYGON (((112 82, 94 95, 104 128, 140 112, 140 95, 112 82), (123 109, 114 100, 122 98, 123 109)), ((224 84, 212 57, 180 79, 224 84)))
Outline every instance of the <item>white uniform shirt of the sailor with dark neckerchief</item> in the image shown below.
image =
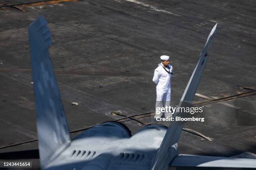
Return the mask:
POLYGON ((153 82, 156 83, 156 88, 158 89, 171 88, 172 75, 168 72, 172 72, 172 65, 169 64, 169 69, 168 67, 163 67, 163 64, 160 63, 154 72, 153 82))

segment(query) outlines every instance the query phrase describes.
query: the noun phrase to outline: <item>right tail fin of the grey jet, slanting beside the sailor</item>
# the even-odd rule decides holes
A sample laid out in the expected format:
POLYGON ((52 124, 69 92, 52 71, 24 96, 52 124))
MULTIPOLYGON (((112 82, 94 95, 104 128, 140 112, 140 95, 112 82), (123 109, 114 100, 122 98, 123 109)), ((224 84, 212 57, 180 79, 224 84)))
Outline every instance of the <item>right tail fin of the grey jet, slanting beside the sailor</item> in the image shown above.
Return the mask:
MULTIPOLYGON (((202 72, 205 68, 208 55, 206 55, 207 50, 210 48, 212 39, 215 35, 217 24, 212 28, 210 35, 207 38, 205 46, 199 56, 199 60, 194 69, 193 74, 190 77, 190 80, 187 84, 187 87, 182 95, 182 98, 179 102, 178 107, 189 107, 191 105, 192 100, 194 99, 195 92, 197 91, 197 86, 199 85, 202 72)), ((184 117, 184 114, 181 112, 174 113, 175 117, 184 117)), ((161 146, 153 160, 152 169, 153 170, 164 170, 169 169, 169 163, 177 156, 177 144, 179 140, 179 136, 182 132, 183 124, 180 123, 171 123, 169 126, 164 139, 161 143, 161 146), (176 150, 176 153, 174 152, 176 150), (172 153, 170 153, 172 151, 172 153)))

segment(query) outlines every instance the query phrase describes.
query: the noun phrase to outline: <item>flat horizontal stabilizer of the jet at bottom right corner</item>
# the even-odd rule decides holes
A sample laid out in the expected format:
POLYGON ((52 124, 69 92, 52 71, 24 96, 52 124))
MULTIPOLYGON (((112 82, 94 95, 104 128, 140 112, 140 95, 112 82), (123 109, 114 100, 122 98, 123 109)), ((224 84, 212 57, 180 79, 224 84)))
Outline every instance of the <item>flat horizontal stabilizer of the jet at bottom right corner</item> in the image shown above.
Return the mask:
POLYGON ((223 168, 256 168, 256 159, 228 158, 201 155, 178 155, 172 167, 223 167, 223 168))

